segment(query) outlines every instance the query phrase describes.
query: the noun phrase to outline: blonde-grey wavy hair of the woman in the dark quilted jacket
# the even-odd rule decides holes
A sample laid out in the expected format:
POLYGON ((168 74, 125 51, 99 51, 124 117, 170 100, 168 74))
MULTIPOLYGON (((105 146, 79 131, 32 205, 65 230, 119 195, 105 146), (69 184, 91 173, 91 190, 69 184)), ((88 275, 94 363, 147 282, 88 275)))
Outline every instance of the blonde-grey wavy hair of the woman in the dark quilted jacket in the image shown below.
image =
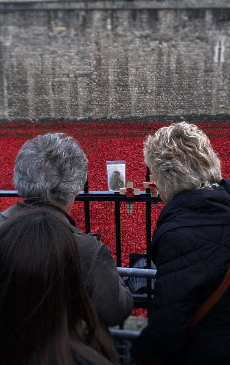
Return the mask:
POLYGON ((157 187, 170 200, 185 189, 221 181, 221 165, 210 140, 194 124, 172 123, 149 135, 144 160, 157 187))

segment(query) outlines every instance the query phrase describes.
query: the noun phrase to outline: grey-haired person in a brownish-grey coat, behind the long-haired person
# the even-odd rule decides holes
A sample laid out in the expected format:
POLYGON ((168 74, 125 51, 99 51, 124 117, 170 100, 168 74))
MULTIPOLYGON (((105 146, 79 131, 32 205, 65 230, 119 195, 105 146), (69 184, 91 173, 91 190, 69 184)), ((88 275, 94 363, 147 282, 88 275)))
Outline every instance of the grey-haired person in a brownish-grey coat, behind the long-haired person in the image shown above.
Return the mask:
POLYGON ((24 202, 0 214, 0 224, 30 205, 52 207, 71 226, 77 239, 86 292, 106 326, 120 324, 132 311, 129 289, 117 273, 109 248, 78 230, 69 216, 75 195, 87 177, 87 159, 77 141, 64 133, 38 135, 27 141, 15 160, 14 184, 24 202))

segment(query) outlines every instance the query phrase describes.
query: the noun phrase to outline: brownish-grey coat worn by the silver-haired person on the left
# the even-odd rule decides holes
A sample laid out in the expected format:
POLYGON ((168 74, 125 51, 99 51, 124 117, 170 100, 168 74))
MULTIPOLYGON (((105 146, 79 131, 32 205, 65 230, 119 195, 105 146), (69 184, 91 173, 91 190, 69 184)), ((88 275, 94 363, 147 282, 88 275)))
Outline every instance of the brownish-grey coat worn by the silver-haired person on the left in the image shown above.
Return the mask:
MULTIPOLYGON (((0 224, 28 205, 17 202, 0 213, 0 224)), ((31 205, 31 208, 33 205, 31 205)), ((61 212, 53 212, 67 224, 69 220, 61 212)), ((133 308, 129 289, 117 273, 116 263, 109 248, 71 225, 81 257, 82 278, 86 291, 94 303, 98 316, 106 326, 116 326, 123 322, 133 308)))

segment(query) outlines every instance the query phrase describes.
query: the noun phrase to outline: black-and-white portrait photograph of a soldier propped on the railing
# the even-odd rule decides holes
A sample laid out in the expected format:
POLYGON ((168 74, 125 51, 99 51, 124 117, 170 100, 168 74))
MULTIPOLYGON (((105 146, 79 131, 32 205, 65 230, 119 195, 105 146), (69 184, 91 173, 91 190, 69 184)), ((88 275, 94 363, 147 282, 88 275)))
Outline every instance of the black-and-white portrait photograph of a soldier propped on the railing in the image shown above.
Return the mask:
POLYGON ((106 161, 106 172, 109 191, 126 188, 126 161, 106 161))

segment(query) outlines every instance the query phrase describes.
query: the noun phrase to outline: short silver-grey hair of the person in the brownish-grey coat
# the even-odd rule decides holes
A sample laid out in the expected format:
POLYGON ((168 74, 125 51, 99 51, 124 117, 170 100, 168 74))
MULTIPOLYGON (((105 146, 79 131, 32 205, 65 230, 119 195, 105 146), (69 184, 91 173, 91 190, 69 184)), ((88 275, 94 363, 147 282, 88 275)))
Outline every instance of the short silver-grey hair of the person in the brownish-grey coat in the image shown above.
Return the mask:
POLYGON ((65 133, 38 135, 24 143, 15 160, 14 186, 24 198, 68 204, 87 178, 86 155, 65 133))

